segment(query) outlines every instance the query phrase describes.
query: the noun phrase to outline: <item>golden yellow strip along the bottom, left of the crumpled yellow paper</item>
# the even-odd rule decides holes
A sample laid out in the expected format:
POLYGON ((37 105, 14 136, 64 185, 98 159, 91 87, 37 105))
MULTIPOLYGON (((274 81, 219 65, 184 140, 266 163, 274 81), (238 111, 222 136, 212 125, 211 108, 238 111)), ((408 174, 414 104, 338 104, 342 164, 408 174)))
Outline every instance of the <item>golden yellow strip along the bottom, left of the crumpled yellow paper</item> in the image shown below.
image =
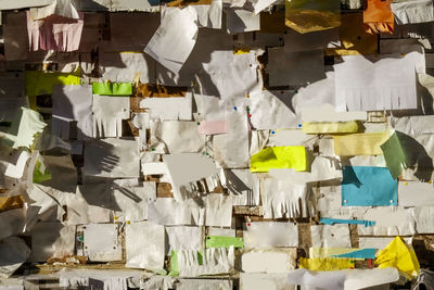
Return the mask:
POLYGON ((337 270, 354 268, 353 259, 342 257, 324 257, 324 259, 306 259, 301 257, 298 266, 311 270, 337 270))

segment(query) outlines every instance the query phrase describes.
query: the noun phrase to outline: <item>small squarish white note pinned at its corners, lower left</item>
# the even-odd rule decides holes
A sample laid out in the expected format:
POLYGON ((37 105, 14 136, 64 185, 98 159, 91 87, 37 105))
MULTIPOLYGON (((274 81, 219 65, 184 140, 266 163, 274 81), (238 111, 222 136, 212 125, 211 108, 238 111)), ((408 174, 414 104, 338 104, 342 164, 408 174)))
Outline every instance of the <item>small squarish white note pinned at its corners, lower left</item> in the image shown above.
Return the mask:
POLYGON ((116 224, 84 226, 84 254, 89 261, 122 261, 123 249, 116 224))

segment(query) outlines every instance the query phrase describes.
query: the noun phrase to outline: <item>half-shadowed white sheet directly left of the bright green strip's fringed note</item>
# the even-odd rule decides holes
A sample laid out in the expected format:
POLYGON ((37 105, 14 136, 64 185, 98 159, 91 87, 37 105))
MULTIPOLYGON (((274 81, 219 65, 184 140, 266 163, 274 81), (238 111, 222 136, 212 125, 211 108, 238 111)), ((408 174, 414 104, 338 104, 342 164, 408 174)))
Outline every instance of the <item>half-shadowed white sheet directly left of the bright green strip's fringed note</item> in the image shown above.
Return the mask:
POLYGON ((93 136, 92 92, 90 86, 54 86, 52 134, 78 140, 93 136))

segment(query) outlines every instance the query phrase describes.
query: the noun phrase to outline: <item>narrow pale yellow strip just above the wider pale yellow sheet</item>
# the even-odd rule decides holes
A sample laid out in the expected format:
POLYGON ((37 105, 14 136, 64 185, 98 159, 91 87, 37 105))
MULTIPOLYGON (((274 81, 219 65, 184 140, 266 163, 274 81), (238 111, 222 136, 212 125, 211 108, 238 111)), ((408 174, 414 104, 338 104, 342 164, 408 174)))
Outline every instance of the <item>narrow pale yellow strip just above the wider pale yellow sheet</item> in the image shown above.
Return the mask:
POLYGON ((358 133, 359 125, 356 121, 349 122, 306 122, 303 123, 306 134, 342 134, 358 133))

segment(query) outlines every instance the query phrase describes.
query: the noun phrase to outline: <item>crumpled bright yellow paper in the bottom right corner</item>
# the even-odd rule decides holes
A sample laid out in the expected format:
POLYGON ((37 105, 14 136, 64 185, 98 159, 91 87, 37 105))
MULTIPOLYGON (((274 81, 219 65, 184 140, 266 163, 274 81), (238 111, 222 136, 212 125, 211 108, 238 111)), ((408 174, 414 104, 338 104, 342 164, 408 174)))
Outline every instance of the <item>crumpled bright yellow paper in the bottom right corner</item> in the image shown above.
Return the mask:
POLYGON ((396 237, 386 248, 381 250, 375 260, 379 268, 395 267, 408 275, 408 279, 419 275, 419 261, 414 250, 408 247, 400 237, 396 237))

